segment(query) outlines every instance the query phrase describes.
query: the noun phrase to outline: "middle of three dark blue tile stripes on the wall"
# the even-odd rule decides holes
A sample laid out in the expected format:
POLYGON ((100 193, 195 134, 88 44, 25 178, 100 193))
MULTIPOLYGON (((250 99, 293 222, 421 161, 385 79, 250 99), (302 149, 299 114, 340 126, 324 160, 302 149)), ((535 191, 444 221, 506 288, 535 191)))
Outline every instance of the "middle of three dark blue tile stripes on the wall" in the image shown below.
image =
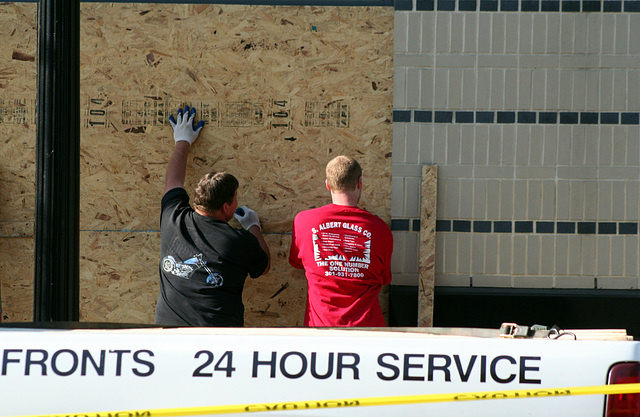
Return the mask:
POLYGON ((401 123, 640 125, 640 112, 394 110, 393 121, 401 123))

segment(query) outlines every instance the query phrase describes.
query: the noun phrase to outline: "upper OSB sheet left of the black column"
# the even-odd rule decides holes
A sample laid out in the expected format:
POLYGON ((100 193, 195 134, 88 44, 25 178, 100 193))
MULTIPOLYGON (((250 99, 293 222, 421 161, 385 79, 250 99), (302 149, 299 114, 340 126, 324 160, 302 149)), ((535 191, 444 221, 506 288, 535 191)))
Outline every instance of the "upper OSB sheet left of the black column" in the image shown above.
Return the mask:
POLYGON ((0 236, 33 233, 36 6, 0 7, 0 236))

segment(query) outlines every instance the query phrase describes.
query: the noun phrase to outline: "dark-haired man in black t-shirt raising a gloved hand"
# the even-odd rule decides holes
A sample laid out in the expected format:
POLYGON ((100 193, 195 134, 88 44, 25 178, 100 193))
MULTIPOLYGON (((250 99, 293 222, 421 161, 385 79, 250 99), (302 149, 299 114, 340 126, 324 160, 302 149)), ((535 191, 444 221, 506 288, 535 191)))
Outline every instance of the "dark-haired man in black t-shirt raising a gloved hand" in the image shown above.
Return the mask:
POLYGON ((165 178, 160 219, 160 295, 156 324, 240 327, 244 324, 242 289, 247 275, 270 268, 269 248, 258 214, 238 209, 238 180, 225 172, 204 175, 194 207, 184 189, 187 155, 203 122, 193 125, 195 109, 171 116, 175 148, 165 178), (237 209, 237 213, 236 213, 237 209), (236 217, 242 229, 227 222, 236 217))

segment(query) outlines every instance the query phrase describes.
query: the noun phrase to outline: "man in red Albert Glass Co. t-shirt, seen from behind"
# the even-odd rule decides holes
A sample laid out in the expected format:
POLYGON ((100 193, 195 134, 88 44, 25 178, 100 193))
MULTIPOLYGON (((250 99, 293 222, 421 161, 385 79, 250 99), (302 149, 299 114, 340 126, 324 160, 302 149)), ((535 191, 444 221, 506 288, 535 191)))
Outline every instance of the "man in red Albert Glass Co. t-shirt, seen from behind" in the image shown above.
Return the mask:
POLYGON ((385 327, 378 295, 391 282, 393 236, 377 216, 357 207, 362 168, 350 157, 327 164, 332 204, 295 217, 289 263, 304 268, 311 327, 385 327))

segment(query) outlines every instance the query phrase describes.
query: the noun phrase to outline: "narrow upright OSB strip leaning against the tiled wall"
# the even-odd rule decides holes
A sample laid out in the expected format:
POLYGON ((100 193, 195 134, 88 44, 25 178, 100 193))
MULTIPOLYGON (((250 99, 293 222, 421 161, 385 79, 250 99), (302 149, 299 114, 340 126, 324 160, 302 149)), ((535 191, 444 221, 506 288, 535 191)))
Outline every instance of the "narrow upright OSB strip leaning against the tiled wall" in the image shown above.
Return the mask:
POLYGON ((422 211, 420 213, 420 266, 418 283, 418 326, 433 326, 436 265, 436 207, 438 166, 422 167, 422 211))

